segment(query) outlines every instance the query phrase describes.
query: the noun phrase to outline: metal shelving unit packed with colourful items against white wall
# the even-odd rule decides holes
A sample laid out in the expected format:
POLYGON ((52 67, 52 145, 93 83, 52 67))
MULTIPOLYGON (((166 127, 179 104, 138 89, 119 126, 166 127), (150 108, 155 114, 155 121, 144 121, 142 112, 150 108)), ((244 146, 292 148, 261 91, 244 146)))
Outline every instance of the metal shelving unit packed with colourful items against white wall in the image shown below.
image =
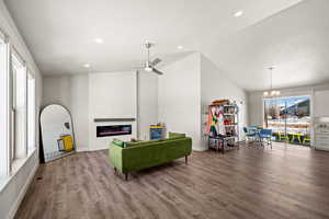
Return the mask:
MULTIPOLYGON (((209 132, 208 148, 225 153, 227 149, 239 148, 239 107, 237 104, 209 105, 208 108, 216 107, 222 115, 218 119, 223 119, 216 124, 216 128, 220 131, 209 132), (220 117, 223 116, 223 117, 220 117), (223 127, 222 127, 223 126, 223 127)), ((217 118, 216 118, 217 119, 217 118)))

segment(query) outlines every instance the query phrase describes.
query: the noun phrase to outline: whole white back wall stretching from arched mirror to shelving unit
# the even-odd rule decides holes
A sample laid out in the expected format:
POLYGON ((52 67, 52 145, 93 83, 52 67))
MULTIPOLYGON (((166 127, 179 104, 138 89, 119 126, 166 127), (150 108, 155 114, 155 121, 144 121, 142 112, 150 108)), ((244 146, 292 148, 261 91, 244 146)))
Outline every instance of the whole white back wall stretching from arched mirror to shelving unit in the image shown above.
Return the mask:
POLYGON ((78 150, 107 146, 109 139, 97 143, 94 118, 136 116, 138 138, 149 138, 149 124, 163 122, 168 131, 191 136, 194 150, 205 150, 201 141, 202 106, 216 99, 242 102, 240 127, 246 125, 245 91, 225 78, 206 57, 190 54, 161 70, 163 76, 140 71, 138 78, 131 71, 45 77, 43 104, 59 103, 71 111, 78 150))

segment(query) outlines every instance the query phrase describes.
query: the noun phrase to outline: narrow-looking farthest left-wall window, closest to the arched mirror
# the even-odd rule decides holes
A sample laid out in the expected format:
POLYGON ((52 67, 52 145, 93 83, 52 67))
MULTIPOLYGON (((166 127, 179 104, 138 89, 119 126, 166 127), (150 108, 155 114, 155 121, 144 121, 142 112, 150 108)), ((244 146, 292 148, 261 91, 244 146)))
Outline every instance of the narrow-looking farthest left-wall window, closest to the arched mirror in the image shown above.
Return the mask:
POLYGON ((35 79, 27 71, 27 153, 35 149, 35 79))

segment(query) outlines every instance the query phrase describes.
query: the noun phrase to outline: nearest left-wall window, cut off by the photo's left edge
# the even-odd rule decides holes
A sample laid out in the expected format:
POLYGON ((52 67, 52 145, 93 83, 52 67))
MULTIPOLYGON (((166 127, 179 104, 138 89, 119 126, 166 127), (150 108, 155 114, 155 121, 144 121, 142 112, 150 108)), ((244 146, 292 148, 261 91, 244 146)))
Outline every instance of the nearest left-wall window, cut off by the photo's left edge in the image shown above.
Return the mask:
POLYGON ((0 177, 9 174, 9 46, 0 32, 0 177))

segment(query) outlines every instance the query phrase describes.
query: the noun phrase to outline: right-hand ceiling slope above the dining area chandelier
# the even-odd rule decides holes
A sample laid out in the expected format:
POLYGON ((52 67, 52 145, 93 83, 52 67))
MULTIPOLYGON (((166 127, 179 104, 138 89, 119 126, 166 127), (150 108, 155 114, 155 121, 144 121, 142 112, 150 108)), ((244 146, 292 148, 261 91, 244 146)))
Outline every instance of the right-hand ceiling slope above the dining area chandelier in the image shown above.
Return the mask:
POLYGON ((248 91, 329 81, 329 1, 305 0, 202 50, 248 91), (220 48, 214 51, 213 47, 220 48))

